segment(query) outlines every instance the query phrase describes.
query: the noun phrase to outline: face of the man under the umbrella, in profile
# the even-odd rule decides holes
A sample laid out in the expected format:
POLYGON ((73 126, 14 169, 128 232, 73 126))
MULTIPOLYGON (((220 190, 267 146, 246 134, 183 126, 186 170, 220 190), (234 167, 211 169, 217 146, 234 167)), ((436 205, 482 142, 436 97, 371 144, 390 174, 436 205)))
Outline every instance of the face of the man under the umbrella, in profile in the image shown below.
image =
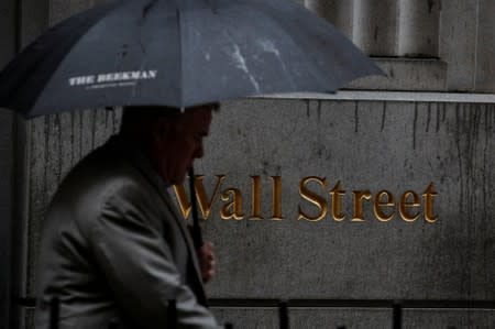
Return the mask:
POLYGON ((169 184, 182 184, 195 158, 204 155, 202 139, 208 135, 211 108, 186 109, 177 120, 165 122, 154 157, 158 174, 169 184))

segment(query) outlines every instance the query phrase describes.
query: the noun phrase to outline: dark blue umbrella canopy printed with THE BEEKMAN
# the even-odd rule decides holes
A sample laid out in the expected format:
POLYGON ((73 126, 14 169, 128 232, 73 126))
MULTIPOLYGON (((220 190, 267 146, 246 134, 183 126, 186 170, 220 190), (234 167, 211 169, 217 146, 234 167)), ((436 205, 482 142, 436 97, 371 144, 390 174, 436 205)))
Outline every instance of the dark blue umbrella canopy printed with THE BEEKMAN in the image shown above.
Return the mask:
POLYGON ((382 72, 290 0, 123 0, 69 18, 0 74, 0 106, 31 118, 106 106, 191 107, 333 92, 382 72))

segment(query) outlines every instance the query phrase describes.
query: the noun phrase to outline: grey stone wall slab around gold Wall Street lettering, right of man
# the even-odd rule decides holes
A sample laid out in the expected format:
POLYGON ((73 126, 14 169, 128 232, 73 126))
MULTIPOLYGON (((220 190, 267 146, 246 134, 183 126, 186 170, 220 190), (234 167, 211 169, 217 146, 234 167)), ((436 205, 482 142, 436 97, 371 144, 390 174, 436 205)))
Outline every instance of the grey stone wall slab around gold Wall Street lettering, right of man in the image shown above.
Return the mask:
MULTIPOLYGON (((392 309, 336 309, 324 307, 324 300, 494 300, 494 143, 493 105, 224 103, 213 120, 207 156, 196 169, 206 176, 208 199, 219 182, 215 175, 226 176, 205 221, 219 263, 209 293, 223 299, 221 306, 231 299, 233 305, 244 300, 244 307, 219 307, 219 316, 255 328, 253 323, 277 317, 276 308, 256 299, 298 299, 299 307, 290 312, 295 328, 386 328, 382 323, 392 326, 392 309), (261 177, 263 219, 250 218, 251 176, 261 177), (273 219, 272 176, 282 177, 284 219, 273 219), (301 197, 300 182, 309 176, 326 179, 324 187, 321 180, 307 184, 317 195, 310 198, 328 207, 324 218, 315 221, 298 219, 300 212, 318 217, 323 209, 301 197), (345 190, 341 221, 331 213, 330 191, 338 182, 345 190), (426 220, 422 197, 431 183, 438 193, 435 222, 426 220), (243 216, 227 219, 223 213, 222 219, 222 208, 232 202, 233 193, 226 191, 231 188, 242 195, 238 213, 243 216), (351 191, 365 189, 373 199, 363 201, 363 220, 353 220, 351 191), (389 221, 377 220, 373 211, 380 190, 395 198, 396 206, 385 211, 395 212, 389 221), (419 215, 414 221, 399 213, 406 190, 419 196, 420 205, 409 208, 409 215, 419 215)), ((493 310, 452 312, 406 309, 405 327, 488 328, 494 320, 493 310)))

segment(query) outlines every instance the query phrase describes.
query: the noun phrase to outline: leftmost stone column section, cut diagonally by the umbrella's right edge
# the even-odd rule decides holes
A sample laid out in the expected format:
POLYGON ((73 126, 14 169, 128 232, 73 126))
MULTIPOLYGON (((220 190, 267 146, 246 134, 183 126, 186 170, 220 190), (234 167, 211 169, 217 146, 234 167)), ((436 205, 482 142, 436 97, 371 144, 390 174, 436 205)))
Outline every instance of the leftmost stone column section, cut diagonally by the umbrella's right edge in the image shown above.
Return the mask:
POLYGON ((305 0, 305 6, 352 40, 354 0, 305 0))

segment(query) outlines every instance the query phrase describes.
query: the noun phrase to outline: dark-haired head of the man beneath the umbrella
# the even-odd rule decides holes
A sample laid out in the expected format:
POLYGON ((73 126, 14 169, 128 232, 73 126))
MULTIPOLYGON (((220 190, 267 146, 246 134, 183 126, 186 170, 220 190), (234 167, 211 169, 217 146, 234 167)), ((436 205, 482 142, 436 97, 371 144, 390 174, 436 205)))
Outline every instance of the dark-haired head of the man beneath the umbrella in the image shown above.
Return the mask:
POLYGON ((211 111, 218 105, 187 108, 128 107, 121 134, 138 142, 153 168, 169 184, 182 184, 195 158, 202 157, 211 111))

